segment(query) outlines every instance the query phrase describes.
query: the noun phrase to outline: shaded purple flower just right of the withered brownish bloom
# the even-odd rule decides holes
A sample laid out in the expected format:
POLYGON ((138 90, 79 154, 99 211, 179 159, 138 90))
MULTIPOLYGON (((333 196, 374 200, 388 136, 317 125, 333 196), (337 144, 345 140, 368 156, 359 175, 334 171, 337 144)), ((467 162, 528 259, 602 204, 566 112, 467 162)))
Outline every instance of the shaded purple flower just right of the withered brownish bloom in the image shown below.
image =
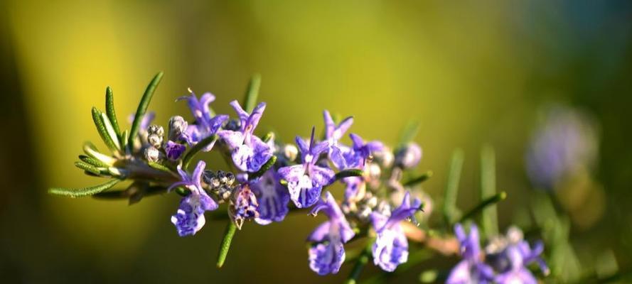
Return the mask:
POLYGON ((277 173, 270 169, 257 182, 251 184, 250 188, 259 200, 259 217, 255 218, 257 224, 281 222, 289 211, 289 193, 279 180, 277 173))

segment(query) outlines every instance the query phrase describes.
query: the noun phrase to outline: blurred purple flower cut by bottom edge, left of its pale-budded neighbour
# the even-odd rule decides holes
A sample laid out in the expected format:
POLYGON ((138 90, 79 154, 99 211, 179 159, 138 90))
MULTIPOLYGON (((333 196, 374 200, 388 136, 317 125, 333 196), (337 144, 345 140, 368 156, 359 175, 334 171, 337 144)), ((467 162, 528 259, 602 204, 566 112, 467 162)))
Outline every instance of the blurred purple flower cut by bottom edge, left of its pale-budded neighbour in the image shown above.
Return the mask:
POLYGON ((461 256, 464 258, 456 264, 447 284, 492 283, 493 270, 481 261, 481 244, 479 243, 478 228, 475 224, 470 227, 470 234, 466 235, 461 224, 454 226, 454 234, 459 240, 461 256))

